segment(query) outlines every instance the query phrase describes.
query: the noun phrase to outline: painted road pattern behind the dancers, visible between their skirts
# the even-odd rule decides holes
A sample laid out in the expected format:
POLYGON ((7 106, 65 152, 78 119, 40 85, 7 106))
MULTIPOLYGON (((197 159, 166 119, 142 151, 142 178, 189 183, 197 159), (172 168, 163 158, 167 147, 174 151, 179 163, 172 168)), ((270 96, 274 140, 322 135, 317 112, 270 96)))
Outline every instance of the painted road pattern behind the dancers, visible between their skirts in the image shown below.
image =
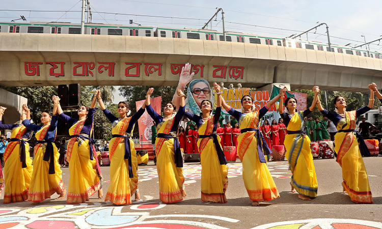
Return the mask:
MULTIPOLYGON (((228 178, 242 176, 242 164, 241 163, 228 163, 228 178)), ((292 174, 288 170, 287 161, 268 162, 268 168, 270 175, 276 178, 290 178, 292 174)), ((183 164, 183 176, 184 178, 198 180, 202 178, 202 165, 183 164)), ((158 172, 155 167, 139 167, 138 168, 139 181, 148 181, 158 177, 158 172)))

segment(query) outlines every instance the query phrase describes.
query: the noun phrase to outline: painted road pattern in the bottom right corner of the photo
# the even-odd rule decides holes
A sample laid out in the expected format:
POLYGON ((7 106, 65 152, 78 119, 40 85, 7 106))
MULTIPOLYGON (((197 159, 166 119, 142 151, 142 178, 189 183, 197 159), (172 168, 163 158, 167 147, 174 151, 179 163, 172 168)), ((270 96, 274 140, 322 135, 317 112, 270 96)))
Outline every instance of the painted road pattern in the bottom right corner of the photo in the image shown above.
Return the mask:
POLYGON ((382 223, 358 219, 306 219, 264 224, 251 229, 376 229, 382 223))

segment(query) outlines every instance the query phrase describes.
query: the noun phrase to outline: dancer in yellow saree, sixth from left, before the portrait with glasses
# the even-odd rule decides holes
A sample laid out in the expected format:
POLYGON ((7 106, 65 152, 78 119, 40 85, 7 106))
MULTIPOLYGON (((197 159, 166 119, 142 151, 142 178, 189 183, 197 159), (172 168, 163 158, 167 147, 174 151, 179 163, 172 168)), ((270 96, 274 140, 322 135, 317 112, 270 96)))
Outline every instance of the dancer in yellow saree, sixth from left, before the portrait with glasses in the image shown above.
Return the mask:
MULTIPOLYGON (((220 85, 214 83, 216 93, 220 93, 220 85)), ((201 191, 202 201, 207 203, 227 203, 228 166, 220 145, 220 136, 216 134, 217 123, 221 114, 221 100, 217 99, 214 115, 212 102, 204 100, 200 109, 202 115, 186 112, 185 116, 199 127, 198 148, 202 165, 201 191)))

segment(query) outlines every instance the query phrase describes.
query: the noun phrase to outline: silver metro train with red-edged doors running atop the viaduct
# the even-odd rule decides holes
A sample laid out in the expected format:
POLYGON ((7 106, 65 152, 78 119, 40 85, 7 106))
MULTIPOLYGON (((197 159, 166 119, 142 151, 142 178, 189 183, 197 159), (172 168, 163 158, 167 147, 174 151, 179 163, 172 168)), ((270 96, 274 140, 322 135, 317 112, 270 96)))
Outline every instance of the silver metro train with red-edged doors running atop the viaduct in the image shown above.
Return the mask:
MULTIPOLYGON (((44 34, 80 34, 81 24, 71 22, 0 22, 0 33, 44 33, 44 34)), ((85 23, 85 34, 119 35, 142 37, 172 37, 198 40, 223 41, 223 33, 216 30, 200 28, 166 28, 152 26, 134 26, 123 24, 85 23)), ((316 41, 295 40, 288 38, 259 36, 257 34, 226 32, 226 41, 285 46, 312 50, 329 51, 329 45, 316 41)), ((363 55, 370 58, 382 59, 382 52, 367 51, 349 46, 332 44, 332 52, 350 55, 363 55)))

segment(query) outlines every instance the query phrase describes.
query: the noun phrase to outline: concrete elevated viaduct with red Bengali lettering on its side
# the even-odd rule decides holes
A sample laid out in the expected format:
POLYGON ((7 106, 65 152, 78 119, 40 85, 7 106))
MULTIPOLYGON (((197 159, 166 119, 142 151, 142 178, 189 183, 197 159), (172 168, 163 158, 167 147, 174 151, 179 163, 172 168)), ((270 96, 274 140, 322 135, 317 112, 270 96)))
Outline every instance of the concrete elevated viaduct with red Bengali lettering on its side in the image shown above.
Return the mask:
POLYGON ((210 83, 368 92, 382 60, 283 46, 178 38, 0 34, 0 85, 177 85, 182 65, 210 83))

